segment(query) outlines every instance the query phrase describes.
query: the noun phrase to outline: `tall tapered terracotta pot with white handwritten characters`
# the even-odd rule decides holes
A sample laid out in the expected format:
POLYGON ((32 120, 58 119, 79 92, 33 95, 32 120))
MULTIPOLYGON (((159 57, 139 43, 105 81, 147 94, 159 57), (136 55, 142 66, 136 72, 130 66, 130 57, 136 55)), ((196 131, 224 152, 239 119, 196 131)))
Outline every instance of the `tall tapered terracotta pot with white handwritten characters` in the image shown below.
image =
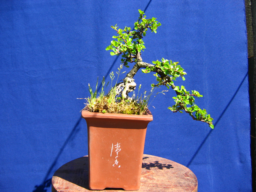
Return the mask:
POLYGON ((82 111, 87 122, 89 187, 138 190, 147 125, 146 115, 82 111))

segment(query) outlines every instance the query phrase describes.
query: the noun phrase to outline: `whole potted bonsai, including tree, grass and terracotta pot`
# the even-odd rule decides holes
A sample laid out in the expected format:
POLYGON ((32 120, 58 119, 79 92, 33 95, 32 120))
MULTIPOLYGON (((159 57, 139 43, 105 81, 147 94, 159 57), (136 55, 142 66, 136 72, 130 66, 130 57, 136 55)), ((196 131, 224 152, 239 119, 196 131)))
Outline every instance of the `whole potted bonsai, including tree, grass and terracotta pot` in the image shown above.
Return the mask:
POLYGON ((134 64, 130 72, 119 83, 117 80, 114 83, 112 72, 108 92, 105 92, 108 84, 104 78, 99 94, 97 86, 93 91, 89 84, 90 97, 86 98, 88 103, 82 110, 88 128, 89 187, 93 190, 139 189, 146 128, 153 120, 148 110, 148 100, 156 88, 165 86, 174 90, 174 104, 168 107, 172 112, 186 112, 193 120, 205 122, 214 128, 210 114, 195 104, 195 97, 200 98, 202 95, 195 90, 189 92, 184 86, 174 85, 176 78, 185 80, 186 75, 178 62, 162 58, 149 64, 142 60, 142 51, 145 49, 142 39, 148 30, 156 33, 161 24, 154 17, 146 19, 141 10, 139 14, 133 30, 130 27, 120 29, 117 25, 111 26, 117 35, 113 36, 114 40, 106 48, 111 50, 112 56, 122 55, 118 77, 124 73, 121 72, 122 66, 128 68, 134 64), (146 92, 142 96, 129 96, 136 88, 134 76, 140 69, 143 73, 153 73, 156 83, 151 84, 148 96, 146 92))

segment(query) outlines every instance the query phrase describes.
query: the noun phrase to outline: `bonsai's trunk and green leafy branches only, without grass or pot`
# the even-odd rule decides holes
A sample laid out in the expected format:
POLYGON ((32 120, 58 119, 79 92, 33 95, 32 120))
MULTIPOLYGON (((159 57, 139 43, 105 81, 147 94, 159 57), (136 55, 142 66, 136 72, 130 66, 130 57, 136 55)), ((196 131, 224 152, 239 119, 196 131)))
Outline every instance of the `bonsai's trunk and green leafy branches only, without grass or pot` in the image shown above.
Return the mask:
POLYGON ((205 109, 200 109, 195 103, 194 97, 200 98, 202 95, 195 90, 190 93, 184 86, 179 87, 174 85, 176 78, 181 77, 182 80, 185 80, 184 75, 186 75, 186 72, 184 72, 184 69, 178 62, 172 62, 172 60, 166 60, 164 58, 161 61, 153 61, 152 64, 142 61, 141 51, 144 51, 146 48, 142 40, 143 37, 146 36, 148 29, 156 33, 157 28, 161 24, 154 17, 146 19, 143 11, 139 10, 139 13, 139 19, 134 23, 133 30, 130 27, 120 29, 116 26, 117 24, 111 26, 111 28, 116 30, 117 35, 112 37, 115 40, 111 41, 111 44, 106 50, 112 50, 110 52, 112 56, 122 55, 121 63, 126 67, 129 67, 129 63, 135 63, 123 81, 116 84, 116 93, 122 98, 129 99, 128 93, 136 87, 133 77, 138 70, 142 68, 142 72, 144 73, 154 72, 157 83, 151 84, 153 88, 166 86, 168 89, 172 88, 176 92, 177 96, 173 97, 175 104, 172 107, 168 107, 168 109, 173 112, 186 112, 194 120, 206 122, 211 128, 214 128, 212 124, 213 118, 210 117, 210 114, 207 114, 205 109))

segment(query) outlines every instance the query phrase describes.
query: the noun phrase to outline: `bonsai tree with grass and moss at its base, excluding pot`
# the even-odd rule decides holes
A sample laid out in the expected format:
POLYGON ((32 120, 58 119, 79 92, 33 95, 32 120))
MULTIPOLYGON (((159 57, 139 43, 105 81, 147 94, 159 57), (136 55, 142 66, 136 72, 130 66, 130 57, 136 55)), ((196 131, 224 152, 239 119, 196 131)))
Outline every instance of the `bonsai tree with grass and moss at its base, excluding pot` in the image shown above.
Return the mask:
MULTIPOLYGON (((122 65, 118 68, 118 77, 121 74, 120 70, 122 66, 129 68, 130 64, 133 64, 131 70, 126 74, 125 78, 120 82, 112 86, 114 80, 114 73, 110 74, 111 78, 111 89, 108 94, 104 93, 105 81, 102 81, 102 91, 100 96, 97 98, 97 86, 96 91, 92 92, 92 88, 89 84, 89 90, 91 97, 87 98, 88 105, 86 109, 92 112, 111 112, 109 108, 113 107, 113 104, 118 104, 118 112, 129 113, 125 109, 126 106, 131 106, 130 108, 143 109, 146 112, 149 97, 141 96, 137 98, 133 95, 129 97, 129 93, 134 91, 136 88, 136 83, 134 82, 135 74, 141 69, 143 73, 153 73, 156 77, 156 83, 152 83, 152 90, 154 88, 165 86, 167 89, 172 89, 176 93, 173 97, 175 104, 168 107, 172 112, 186 112, 193 120, 206 122, 211 128, 214 128, 212 124, 212 118, 210 114, 207 114, 205 109, 200 109, 195 103, 195 97, 202 97, 196 90, 187 91, 184 86, 175 86, 174 81, 176 78, 181 77, 185 80, 184 69, 178 64, 178 62, 172 62, 172 60, 166 60, 162 58, 160 61, 153 61, 152 64, 144 62, 142 60, 142 51, 144 51, 145 46, 143 38, 146 36, 146 32, 151 30, 151 32, 156 33, 156 30, 161 26, 160 22, 156 21, 156 18, 152 17, 146 19, 144 12, 139 10, 139 19, 134 23, 134 29, 130 27, 125 27, 124 29, 118 28, 116 25, 111 26, 117 35, 113 36, 114 40, 106 48, 106 50, 111 50, 110 54, 112 56, 122 55, 121 63, 122 65), (97 107, 96 107, 97 106, 97 107), (111 107, 110 107, 111 106, 111 107), (120 110, 122 108, 122 110, 120 110)), ((124 73, 124 72, 123 72, 124 73)), ((98 84, 98 83, 97 83, 98 84)), ((105 86, 106 87, 106 86, 105 86)), ((151 91, 152 91, 151 90, 151 91)), ((141 110, 140 110, 141 112, 141 110)), ((140 112, 138 114, 140 114, 140 112)))

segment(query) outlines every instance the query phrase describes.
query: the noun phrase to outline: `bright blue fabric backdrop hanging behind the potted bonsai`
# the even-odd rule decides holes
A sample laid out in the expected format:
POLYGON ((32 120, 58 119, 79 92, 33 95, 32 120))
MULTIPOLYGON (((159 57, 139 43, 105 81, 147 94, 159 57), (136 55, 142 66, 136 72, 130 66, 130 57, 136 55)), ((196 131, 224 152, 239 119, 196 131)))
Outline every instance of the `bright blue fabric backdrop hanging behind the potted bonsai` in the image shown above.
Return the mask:
MULTIPOLYGON (((80 118, 88 83, 120 65, 105 48, 133 27, 138 9, 162 26, 144 39, 145 62, 180 62, 183 83, 203 98, 215 128, 172 113, 174 94, 150 110, 144 153, 190 168, 199 192, 251 191, 250 116, 243 0, 1 0, 0 189, 50 192, 64 163, 87 155, 80 118)), ((154 79, 135 76, 137 84, 154 79)), ((109 80, 109 78, 107 78, 109 80)), ((148 83, 142 89, 150 88, 148 83)))

